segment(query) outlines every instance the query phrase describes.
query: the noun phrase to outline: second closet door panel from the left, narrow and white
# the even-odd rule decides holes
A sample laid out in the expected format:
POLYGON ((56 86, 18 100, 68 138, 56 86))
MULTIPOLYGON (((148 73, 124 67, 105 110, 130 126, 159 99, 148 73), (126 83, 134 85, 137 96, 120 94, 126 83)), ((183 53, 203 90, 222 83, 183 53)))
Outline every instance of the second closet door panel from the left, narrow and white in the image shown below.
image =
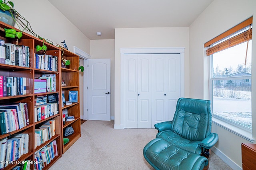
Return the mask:
POLYGON ((152 120, 152 58, 138 55, 138 128, 151 128, 152 120))

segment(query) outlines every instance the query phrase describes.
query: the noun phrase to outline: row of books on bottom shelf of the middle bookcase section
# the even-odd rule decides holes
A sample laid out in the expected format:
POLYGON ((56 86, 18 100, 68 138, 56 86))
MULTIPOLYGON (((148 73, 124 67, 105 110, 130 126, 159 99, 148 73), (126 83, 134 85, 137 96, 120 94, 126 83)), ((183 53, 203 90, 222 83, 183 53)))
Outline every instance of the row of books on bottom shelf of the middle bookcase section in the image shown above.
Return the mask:
POLYGON ((35 160, 38 162, 35 164, 35 170, 42 170, 58 156, 57 143, 52 141, 49 145, 43 147, 41 150, 35 153, 35 160))

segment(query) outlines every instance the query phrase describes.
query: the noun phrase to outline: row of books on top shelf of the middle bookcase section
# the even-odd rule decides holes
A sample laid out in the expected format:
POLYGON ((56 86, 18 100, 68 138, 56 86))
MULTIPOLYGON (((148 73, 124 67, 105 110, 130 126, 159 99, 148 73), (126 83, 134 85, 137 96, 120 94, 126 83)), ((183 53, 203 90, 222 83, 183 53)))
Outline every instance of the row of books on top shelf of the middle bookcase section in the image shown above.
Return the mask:
POLYGON ((58 71, 58 57, 52 55, 35 54, 35 68, 42 70, 58 71))

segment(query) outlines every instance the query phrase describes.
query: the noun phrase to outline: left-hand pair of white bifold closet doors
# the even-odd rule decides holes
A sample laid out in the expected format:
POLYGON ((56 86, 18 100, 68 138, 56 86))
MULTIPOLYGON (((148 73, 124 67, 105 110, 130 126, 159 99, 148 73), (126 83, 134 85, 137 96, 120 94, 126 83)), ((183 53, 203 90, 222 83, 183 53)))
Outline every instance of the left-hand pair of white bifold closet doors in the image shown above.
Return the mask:
POLYGON ((123 59, 124 127, 151 128, 151 54, 129 54, 123 59))

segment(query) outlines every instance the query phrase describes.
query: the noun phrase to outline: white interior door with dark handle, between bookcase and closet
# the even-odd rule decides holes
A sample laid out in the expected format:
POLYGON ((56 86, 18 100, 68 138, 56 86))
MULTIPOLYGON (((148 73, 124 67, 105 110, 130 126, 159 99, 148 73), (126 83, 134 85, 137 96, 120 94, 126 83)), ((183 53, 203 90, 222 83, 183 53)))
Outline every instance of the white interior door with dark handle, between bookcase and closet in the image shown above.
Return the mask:
POLYGON ((88 119, 110 121, 110 59, 88 60, 88 119))

